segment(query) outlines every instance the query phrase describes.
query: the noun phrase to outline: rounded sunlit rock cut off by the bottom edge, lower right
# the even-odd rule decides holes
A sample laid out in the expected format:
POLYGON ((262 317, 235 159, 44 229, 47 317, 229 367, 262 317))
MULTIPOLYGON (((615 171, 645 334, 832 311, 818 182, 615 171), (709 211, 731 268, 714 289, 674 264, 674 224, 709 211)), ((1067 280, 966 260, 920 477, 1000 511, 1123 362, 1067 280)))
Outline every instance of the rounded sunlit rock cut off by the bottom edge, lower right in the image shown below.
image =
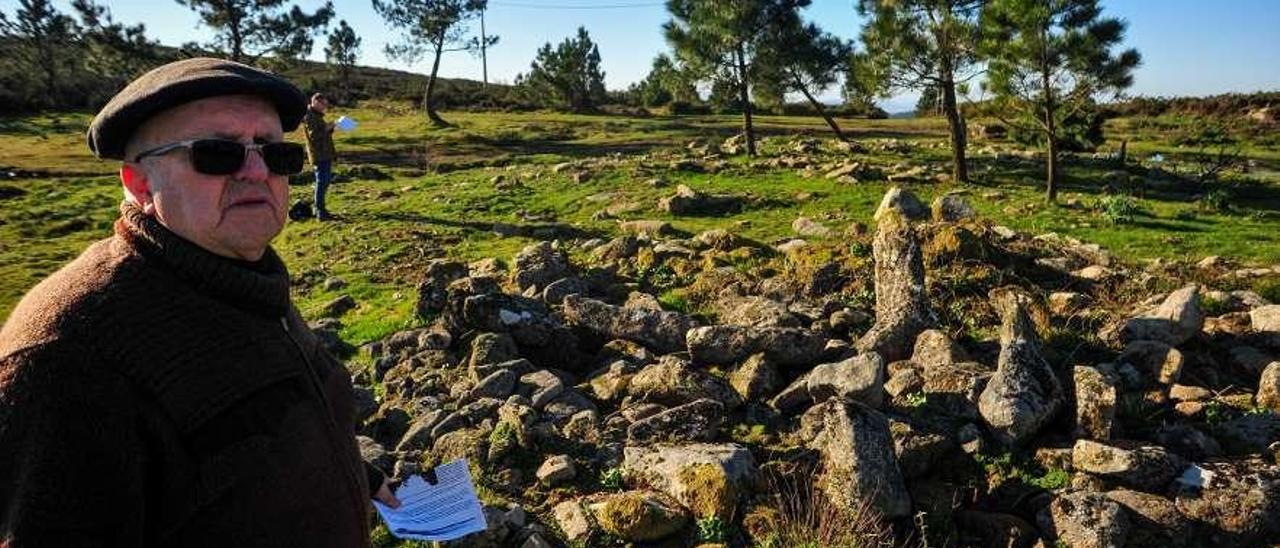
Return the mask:
POLYGON ((1037 516, 1041 530, 1071 548, 1123 548, 1129 516, 1119 503, 1091 492, 1053 498, 1037 516))

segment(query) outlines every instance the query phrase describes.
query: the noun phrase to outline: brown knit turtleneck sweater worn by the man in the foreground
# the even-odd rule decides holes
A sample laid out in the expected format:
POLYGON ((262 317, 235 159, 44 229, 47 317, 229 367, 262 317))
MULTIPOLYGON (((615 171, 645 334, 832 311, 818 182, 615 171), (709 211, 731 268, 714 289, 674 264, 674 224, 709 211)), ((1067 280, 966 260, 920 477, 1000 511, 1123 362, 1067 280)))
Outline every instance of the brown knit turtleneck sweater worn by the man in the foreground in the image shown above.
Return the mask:
POLYGON ((381 476, 280 259, 120 210, 0 330, 0 545, 367 545, 381 476))

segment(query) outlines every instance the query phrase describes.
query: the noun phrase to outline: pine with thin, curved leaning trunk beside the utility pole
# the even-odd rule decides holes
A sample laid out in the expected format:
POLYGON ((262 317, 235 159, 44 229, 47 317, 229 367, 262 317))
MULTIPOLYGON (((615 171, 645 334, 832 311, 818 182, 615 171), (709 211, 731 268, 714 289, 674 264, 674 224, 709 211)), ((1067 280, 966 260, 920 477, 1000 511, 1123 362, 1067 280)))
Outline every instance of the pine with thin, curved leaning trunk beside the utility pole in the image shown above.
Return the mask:
POLYGON ((374 10, 403 32, 399 44, 387 45, 389 58, 417 63, 425 54, 431 54, 431 74, 422 92, 422 108, 435 125, 449 125, 435 111, 434 104, 440 56, 448 51, 474 52, 498 42, 497 36, 488 36, 481 45, 481 38, 471 36, 466 24, 479 17, 488 4, 488 0, 374 0, 374 10))

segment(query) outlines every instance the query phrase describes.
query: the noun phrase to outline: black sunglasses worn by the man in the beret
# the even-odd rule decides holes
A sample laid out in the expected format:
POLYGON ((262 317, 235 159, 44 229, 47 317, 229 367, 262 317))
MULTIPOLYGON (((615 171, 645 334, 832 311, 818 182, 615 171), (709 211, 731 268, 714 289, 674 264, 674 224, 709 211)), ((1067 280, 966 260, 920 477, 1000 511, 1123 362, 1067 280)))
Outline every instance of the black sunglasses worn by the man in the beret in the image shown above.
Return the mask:
POLYGON ((244 145, 220 138, 197 138, 140 152, 133 157, 133 161, 169 154, 178 149, 191 149, 191 166, 206 175, 230 175, 238 172, 244 165, 244 159, 248 157, 251 150, 262 155, 266 169, 276 175, 302 173, 302 163, 306 160, 306 149, 296 142, 244 145))

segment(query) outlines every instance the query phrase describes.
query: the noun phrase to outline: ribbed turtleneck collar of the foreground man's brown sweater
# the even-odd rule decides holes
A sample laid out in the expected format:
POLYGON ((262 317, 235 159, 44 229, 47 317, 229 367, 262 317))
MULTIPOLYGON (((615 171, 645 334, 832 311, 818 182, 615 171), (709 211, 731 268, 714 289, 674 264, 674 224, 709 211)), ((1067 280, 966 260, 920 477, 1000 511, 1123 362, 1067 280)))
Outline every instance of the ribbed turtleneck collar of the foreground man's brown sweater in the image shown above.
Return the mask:
POLYGON ((136 204, 120 204, 115 233, 143 257, 164 264, 197 291, 265 316, 289 310, 289 273, 271 247, 256 261, 209 252, 165 228, 136 204))

